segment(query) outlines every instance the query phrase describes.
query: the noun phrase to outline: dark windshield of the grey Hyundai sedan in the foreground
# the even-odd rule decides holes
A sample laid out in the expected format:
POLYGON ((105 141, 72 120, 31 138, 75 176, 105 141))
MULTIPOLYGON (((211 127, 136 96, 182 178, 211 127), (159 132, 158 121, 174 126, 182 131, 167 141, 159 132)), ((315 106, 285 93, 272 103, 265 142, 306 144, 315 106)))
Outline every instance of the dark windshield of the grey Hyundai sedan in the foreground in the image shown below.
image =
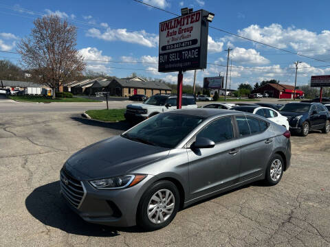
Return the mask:
POLYGON ((203 119, 198 116, 162 113, 133 127, 122 134, 122 137, 162 148, 175 148, 203 119))

